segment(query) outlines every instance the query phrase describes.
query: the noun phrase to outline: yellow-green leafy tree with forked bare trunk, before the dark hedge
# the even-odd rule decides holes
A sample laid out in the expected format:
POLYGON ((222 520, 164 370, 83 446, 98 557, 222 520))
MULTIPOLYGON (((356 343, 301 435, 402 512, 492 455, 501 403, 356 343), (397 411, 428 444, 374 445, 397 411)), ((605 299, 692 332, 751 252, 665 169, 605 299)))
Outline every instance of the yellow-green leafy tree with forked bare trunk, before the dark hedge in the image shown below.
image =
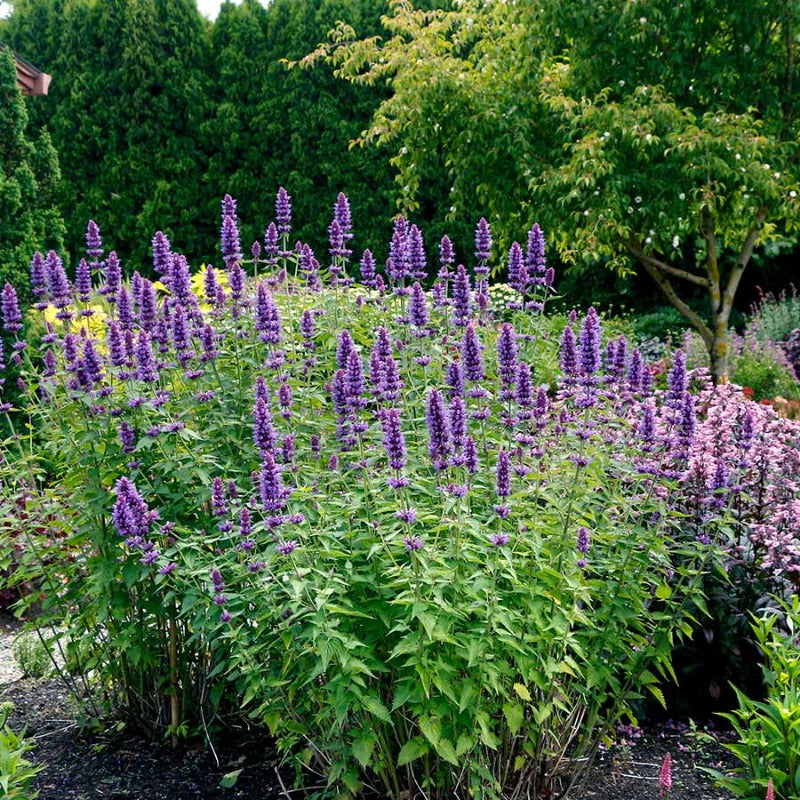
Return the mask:
POLYGON ((401 176, 442 148, 456 196, 477 186, 504 243, 539 219, 579 268, 639 261, 724 376, 753 250, 796 230, 800 4, 391 6, 388 40, 341 25, 310 58, 389 85, 365 138, 401 176), (707 313, 675 281, 706 291, 707 313))

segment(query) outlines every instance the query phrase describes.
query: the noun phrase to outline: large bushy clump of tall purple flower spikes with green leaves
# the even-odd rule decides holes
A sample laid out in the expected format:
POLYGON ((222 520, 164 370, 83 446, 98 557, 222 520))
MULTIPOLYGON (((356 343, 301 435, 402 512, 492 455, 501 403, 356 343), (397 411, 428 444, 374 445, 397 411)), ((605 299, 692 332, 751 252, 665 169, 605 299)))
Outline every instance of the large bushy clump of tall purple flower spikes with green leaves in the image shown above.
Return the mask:
MULTIPOLYGON (((90 223, 74 283, 33 259, 38 341, 4 288, 25 394, 3 410, 28 432, 3 445, 8 479, 25 513, 47 465, 69 520, 21 575, 66 625, 68 667, 151 730, 243 706, 343 794, 564 796, 661 698, 703 576, 740 543, 740 495, 693 460, 684 355, 654 390, 590 309, 539 385, 556 343, 538 226, 511 247, 503 321, 485 220, 472 255, 444 238, 434 266, 398 218, 385 273, 352 258, 344 195, 322 261, 291 229, 281 190, 245 261, 226 196, 225 268, 191 276, 159 233, 155 284, 121 280, 90 223)), ((747 419, 737 446, 787 426, 754 485, 796 474, 797 430, 747 419)))

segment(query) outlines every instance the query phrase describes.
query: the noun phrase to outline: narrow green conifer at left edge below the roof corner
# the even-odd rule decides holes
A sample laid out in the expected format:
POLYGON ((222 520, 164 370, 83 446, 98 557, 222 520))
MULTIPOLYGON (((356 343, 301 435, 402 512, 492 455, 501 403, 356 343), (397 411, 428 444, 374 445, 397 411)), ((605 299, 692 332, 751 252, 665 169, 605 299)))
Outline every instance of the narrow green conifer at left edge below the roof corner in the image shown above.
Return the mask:
POLYGON ((47 131, 27 130, 26 100, 17 86, 14 57, 0 50, 0 286, 24 290, 35 250, 60 247, 64 222, 53 195, 58 158, 47 131))

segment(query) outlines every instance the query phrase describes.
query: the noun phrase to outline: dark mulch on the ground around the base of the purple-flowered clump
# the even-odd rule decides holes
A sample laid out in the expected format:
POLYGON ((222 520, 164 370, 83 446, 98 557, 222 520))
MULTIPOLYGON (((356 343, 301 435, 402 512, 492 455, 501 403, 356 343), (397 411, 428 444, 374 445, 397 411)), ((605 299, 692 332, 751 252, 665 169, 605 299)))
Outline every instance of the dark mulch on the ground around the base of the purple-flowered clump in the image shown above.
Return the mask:
MULTIPOLYGON (((246 732, 215 742, 217 764, 202 743, 172 749, 124 730, 81 734, 75 707, 55 680, 9 684, 0 688, 4 700, 14 704, 12 725, 26 727, 35 743, 32 760, 45 764, 36 783, 39 800, 285 800, 304 794, 292 790, 288 770, 279 777, 269 745, 246 732), (236 770, 241 770, 236 784, 222 788, 223 777, 236 770)), ((573 800, 658 800, 658 774, 668 751, 673 762, 670 800, 730 797, 698 769, 731 763, 721 745, 699 743, 688 731, 666 728, 628 736, 603 752, 573 800)))

